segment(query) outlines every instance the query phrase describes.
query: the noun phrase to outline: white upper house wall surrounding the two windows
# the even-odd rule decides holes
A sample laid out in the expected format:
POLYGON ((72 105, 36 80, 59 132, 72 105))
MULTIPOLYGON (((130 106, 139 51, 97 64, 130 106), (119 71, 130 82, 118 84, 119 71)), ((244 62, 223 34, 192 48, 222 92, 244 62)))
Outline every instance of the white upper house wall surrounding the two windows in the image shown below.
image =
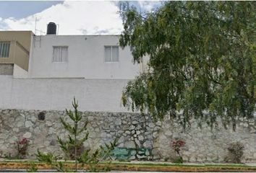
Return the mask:
POLYGON ((84 77, 134 79, 140 65, 132 63, 129 48, 119 48, 119 62, 104 61, 104 46, 119 45, 117 35, 35 36, 30 53, 30 78, 84 77), (52 62, 53 46, 68 46, 68 62, 52 62))

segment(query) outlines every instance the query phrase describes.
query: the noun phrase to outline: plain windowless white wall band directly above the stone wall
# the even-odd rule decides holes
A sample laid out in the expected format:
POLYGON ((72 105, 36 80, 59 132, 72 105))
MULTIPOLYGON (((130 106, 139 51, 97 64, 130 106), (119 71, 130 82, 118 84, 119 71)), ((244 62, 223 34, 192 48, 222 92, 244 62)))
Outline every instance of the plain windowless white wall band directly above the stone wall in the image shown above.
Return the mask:
POLYGON ((79 101, 82 111, 129 112, 121 106, 127 80, 14 79, 0 75, 0 109, 64 110, 79 101))

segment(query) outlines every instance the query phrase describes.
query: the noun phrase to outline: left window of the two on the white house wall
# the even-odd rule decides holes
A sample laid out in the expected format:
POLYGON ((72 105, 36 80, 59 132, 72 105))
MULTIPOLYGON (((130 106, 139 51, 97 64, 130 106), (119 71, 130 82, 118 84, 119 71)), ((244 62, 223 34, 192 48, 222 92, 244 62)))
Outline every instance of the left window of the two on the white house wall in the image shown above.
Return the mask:
POLYGON ((67 62, 67 46, 54 46, 53 62, 67 62))

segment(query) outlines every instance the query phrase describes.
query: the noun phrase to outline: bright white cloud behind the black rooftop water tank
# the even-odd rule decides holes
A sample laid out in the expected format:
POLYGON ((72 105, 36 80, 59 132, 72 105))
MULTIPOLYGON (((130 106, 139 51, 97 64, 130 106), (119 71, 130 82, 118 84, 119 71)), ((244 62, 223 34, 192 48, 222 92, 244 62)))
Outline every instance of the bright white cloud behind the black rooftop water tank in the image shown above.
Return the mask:
MULTIPOLYGON (((160 2, 140 1, 145 10, 160 2)), ((0 30, 32 30, 46 32, 48 22, 59 25, 59 35, 106 35, 120 34, 123 30, 119 8, 114 1, 64 1, 25 18, 0 17, 0 30)), ((43 33, 44 34, 44 33, 43 33)), ((40 32, 36 32, 40 35, 40 32)))

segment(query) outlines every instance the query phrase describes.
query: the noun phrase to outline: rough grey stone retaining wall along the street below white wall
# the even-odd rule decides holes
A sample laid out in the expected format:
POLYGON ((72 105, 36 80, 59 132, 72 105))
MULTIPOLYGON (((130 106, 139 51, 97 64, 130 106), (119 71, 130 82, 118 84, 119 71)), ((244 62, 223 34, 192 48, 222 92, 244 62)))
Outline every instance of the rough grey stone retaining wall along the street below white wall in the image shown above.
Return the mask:
MULTIPOLYGON (((28 158, 34 158, 37 149, 61 154, 56 136, 67 136, 59 121, 64 115, 64 111, 0 110, 0 157, 15 156, 20 138, 30 140, 28 158)), ((82 115, 89 120, 90 134, 85 147, 95 149, 117 137, 115 159, 171 161, 176 155, 170 142, 180 138, 186 142, 181 151, 184 161, 223 162, 230 143, 239 141, 244 145, 242 161, 256 162, 255 120, 240 119, 234 132, 221 125, 214 130, 206 125, 198 128, 195 121, 184 130, 171 120, 153 122, 147 115, 128 112, 82 112, 82 115)))

